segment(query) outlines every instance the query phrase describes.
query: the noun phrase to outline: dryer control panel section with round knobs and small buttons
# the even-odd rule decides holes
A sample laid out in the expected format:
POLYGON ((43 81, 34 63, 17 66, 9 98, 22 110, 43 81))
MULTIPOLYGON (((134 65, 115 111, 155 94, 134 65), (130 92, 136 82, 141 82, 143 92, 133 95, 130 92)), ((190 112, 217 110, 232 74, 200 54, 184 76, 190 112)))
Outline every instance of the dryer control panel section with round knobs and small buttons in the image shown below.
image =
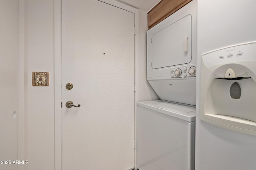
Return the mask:
POLYGON ((171 78, 196 77, 196 64, 170 68, 171 78))

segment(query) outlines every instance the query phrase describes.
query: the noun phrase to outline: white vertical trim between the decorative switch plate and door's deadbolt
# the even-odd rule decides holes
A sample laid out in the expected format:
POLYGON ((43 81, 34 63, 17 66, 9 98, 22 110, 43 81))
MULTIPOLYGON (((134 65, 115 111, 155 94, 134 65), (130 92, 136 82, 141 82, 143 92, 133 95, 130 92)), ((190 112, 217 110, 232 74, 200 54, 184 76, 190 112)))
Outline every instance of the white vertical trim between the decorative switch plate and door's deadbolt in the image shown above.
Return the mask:
POLYGON ((62 1, 54 0, 54 169, 62 170, 62 1))

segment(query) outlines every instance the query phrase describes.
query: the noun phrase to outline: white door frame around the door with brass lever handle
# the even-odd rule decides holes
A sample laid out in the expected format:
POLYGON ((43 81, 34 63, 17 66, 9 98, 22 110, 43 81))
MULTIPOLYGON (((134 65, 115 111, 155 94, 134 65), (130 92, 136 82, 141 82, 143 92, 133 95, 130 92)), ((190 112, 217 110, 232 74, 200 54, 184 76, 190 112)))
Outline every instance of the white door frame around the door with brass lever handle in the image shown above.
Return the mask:
MULTIPOLYGON (((117 2, 115 0, 99 0, 101 2, 122 8, 134 13, 135 29, 134 29, 134 167, 137 167, 137 151, 136 151, 136 120, 137 120, 137 102, 139 99, 138 83, 139 83, 139 10, 117 2)), ((54 157, 55 170, 62 170, 62 0, 54 0, 54 157)))

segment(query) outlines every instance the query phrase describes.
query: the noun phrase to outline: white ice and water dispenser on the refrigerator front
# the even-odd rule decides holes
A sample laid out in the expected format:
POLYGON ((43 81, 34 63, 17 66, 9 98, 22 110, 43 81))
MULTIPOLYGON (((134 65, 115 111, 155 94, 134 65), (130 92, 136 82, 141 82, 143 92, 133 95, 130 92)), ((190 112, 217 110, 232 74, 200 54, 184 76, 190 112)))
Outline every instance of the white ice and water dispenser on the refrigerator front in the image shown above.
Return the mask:
POLYGON ((203 55, 200 88, 202 120, 256 135, 255 54, 256 42, 250 42, 203 55))

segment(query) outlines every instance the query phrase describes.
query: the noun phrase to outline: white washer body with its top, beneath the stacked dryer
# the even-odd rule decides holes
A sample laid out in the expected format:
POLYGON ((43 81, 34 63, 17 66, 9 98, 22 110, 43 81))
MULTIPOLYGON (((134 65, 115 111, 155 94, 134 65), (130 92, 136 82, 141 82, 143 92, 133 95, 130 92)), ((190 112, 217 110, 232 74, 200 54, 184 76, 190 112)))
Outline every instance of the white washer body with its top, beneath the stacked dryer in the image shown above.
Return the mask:
POLYGON ((194 170, 195 108, 182 107, 163 101, 138 103, 140 170, 194 170), (170 105, 173 111, 156 107, 162 104, 170 105), (188 112, 176 113, 185 110, 188 112), (184 117, 170 116, 175 114, 184 117), (190 121, 183 119, 186 117, 190 121))

